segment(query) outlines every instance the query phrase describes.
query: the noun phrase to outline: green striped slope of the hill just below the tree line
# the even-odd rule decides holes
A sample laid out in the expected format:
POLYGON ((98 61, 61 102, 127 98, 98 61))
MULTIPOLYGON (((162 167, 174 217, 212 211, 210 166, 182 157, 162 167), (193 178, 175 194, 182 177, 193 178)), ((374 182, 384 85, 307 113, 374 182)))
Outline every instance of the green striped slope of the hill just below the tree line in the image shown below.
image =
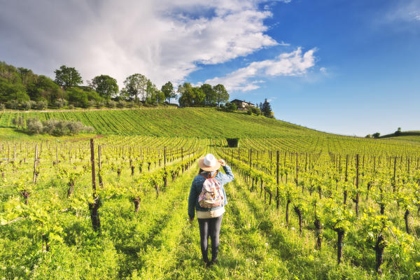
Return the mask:
POLYGON ((305 127, 245 113, 225 113, 212 108, 152 109, 123 111, 57 111, 43 113, 7 113, 0 115, 0 127, 13 127, 21 114, 25 120, 55 118, 80 120, 94 127, 97 134, 146 135, 165 137, 281 137, 284 135, 321 134, 305 127))

